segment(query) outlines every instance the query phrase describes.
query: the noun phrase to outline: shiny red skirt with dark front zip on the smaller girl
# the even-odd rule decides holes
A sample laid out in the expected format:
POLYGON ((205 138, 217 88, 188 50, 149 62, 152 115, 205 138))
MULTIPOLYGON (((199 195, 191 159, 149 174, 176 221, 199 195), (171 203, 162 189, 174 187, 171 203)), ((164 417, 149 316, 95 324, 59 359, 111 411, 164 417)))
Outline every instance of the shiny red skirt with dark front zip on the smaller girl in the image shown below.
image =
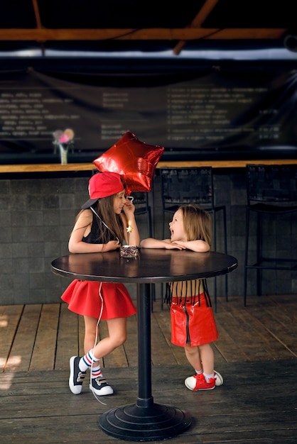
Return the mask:
POLYGON ((191 304, 183 299, 182 304, 171 303, 171 342, 185 347, 185 344, 203 345, 212 343, 219 337, 212 308, 207 306, 205 295, 200 294, 200 302, 191 304))

